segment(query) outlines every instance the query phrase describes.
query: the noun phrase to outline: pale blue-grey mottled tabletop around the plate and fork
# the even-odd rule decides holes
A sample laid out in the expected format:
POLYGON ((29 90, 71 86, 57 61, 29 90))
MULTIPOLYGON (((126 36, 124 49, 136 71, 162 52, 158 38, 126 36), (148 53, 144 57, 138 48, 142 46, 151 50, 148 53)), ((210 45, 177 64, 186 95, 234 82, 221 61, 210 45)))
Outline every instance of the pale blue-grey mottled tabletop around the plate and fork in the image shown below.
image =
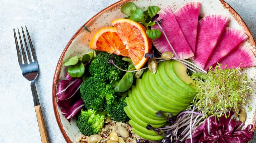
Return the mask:
MULTIPOLYGON (((51 143, 64 143, 52 108, 51 86, 55 66, 77 29, 115 1, 0 0, 0 143, 40 142, 30 86, 21 76, 17 62, 13 28, 28 27, 39 62, 36 86, 48 137, 51 143)), ((255 37, 256 1, 226 1, 242 16, 255 37)))

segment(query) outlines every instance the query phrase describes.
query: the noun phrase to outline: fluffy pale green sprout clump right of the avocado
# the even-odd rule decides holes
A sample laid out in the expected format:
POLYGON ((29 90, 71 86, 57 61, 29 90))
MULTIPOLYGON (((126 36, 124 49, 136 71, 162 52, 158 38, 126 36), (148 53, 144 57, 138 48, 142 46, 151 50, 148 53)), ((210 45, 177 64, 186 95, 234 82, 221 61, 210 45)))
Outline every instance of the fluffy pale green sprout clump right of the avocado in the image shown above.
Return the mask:
POLYGON ((239 114, 239 109, 246 106, 248 96, 252 95, 251 81, 241 72, 241 68, 222 69, 221 64, 211 67, 204 76, 193 76, 197 89, 194 104, 202 108, 207 115, 229 116, 230 111, 239 114), (207 78, 205 78, 207 77, 207 78))

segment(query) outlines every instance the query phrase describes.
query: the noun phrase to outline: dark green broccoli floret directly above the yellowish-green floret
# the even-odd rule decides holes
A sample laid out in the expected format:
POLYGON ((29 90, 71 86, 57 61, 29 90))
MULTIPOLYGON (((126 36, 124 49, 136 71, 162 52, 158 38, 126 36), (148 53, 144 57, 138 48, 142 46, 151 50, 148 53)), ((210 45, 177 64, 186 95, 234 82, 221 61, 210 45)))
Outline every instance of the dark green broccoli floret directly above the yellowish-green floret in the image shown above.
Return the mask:
POLYGON ((89 77, 80 87, 81 97, 87 109, 103 110, 105 103, 111 103, 115 99, 112 86, 105 82, 89 77))

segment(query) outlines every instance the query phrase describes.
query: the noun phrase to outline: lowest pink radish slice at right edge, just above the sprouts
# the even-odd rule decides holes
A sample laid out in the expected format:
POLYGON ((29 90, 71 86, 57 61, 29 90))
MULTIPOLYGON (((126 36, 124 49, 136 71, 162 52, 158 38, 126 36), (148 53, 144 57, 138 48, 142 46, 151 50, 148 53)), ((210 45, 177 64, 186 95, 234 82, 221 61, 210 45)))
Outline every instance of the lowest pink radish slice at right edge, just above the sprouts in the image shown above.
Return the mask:
POLYGON ((256 66, 256 58, 251 49, 242 43, 219 63, 222 64, 222 68, 228 65, 227 68, 229 69, 237 67, 251 67, 256 66))

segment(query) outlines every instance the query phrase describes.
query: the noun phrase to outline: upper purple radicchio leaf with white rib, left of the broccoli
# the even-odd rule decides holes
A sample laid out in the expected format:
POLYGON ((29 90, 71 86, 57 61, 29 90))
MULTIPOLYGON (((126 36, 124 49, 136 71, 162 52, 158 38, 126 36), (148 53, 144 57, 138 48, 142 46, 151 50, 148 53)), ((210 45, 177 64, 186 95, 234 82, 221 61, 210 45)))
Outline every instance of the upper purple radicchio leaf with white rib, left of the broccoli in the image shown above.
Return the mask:
POLYGON ((61 80, 58 83, 58 90, 56 96, 58 101, 63 101, 71 98, 82 85, 83 80, 81 78, 73 78, 71 80, 61 80))

